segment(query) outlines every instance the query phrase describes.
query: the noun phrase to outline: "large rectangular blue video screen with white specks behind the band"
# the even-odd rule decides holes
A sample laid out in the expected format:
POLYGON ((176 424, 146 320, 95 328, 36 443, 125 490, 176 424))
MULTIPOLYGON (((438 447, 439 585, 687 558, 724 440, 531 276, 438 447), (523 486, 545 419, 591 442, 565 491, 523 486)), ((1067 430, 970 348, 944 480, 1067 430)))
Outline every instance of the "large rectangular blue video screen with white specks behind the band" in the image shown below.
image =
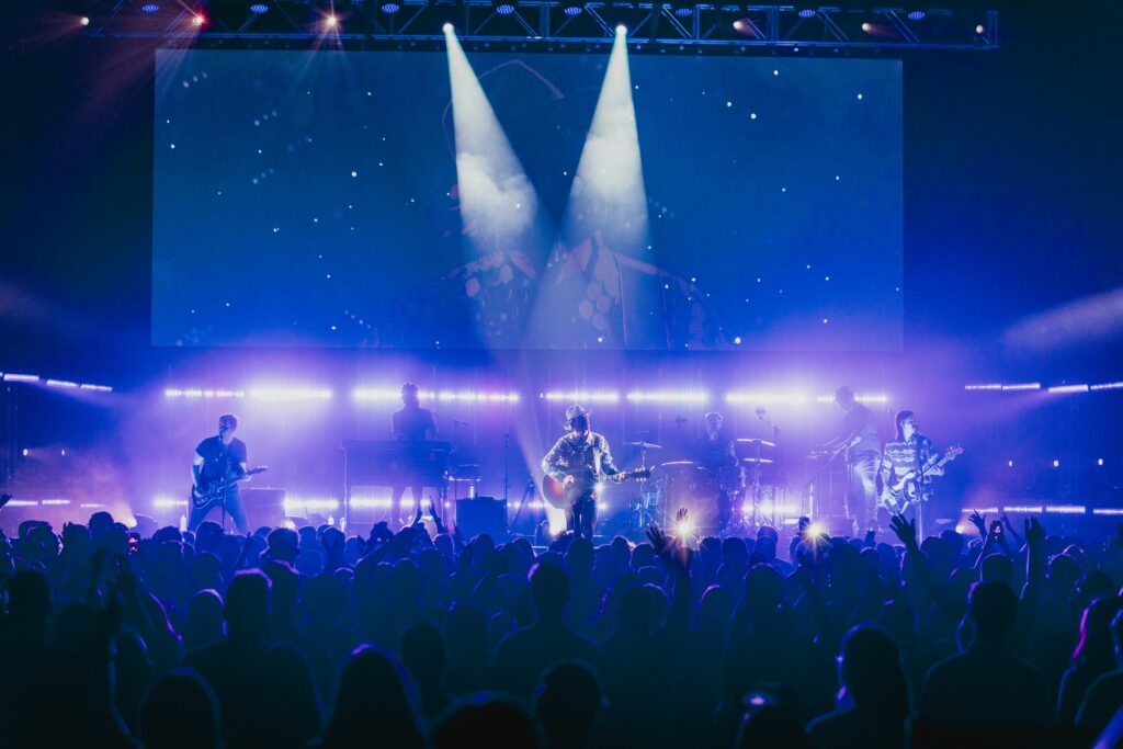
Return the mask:
POLYGON ((900 350, 898 61, 632 56, 646 216, 574 204, 606 53, 468 61, 497 184, 442 52, 159 52, 153 342, 900 350))

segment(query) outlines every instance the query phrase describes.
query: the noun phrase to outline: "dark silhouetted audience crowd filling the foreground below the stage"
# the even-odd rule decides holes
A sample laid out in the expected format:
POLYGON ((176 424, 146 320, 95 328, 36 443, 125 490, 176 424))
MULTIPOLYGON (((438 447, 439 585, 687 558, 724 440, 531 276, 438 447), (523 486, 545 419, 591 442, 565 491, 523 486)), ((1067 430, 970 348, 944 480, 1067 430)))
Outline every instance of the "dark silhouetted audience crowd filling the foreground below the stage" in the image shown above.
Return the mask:
POLYGON ((1123 746, 1123 528, 0 537, 0 746, 1123 746))

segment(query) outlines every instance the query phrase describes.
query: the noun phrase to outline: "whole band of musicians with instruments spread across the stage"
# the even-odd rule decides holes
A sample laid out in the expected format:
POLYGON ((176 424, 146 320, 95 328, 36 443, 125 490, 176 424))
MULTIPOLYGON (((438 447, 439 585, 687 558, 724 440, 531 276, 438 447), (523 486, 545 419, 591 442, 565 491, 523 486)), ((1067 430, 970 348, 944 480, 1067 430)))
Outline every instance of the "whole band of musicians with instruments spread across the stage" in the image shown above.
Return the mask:
MULTIPOLYGON (((840 462, 844 467, 847 491, 842 510, 852 521, 855 532, 884 524, 879 512, 904 513, 921 527, 926 526, 935 479, 962 448, 953 446, 939 454, 932 440, 919 431, 912 411, 897 412, 894 438, 883 446, 877 418, 858 402, 853 390, 843 386, 834 395, 844 412, 841 429, 837 437, 814 448, 809 458, 828 466, 840 462)), ((408 458, 437 444, 440 436, 435 414, 420 404, 417 385, 402 385, 401 399, 402 408, 394 412, 391 428, 394 445, 408 458)), ((757 417, 773 427, 774 438, 778 436, 779 429, 763 408, 757 409, 757 417)), ((570 405, 564 418, 566 433, 541 460, 542 496, 565 511, 569 532, 590 539, 596 528, 604 485, 629 479, 640 483, 641 499, 633 503, 632 510, 641 523, 665 520, 678 506, 693 503, 693 514, 704 518, 705 529, 716 535, 774 524, 778 483, 776 441, 732 438, 725 433, 724 419, 718 412, 706 413, 704 423, 705 433, 690 446, 688 459, 648 467, 648 453, 660 450, 661 446, 627 442, 640 453, 641 466, 621 471, 613 462, 608 439, 593 431, 590 410, 570 405)), ((265 468, 248 467, 246 444, 234 436, 237 428, 237 417, 223 414, 219 418, 218 433, 195 448, 189 530, 195 530, 211 512, 218 512, 223 526, 229 518, 239 532, 249 532, 238 486, 265 468)), ((411 471, 409 459, 401 465, 404 468, 393 472, 386 482, 392 486, 393 522, 400 522, 407 488, 414 502, 420 503, 423 488, 437 483, 431 467, 411 471)), ((439 475, 447 475, 447 471, 439 475)), ((444 496, 444 486, 436 488, 444 496)), ((823 506, 809 509, 812 511, 832 513, 832 509, 823 506)))

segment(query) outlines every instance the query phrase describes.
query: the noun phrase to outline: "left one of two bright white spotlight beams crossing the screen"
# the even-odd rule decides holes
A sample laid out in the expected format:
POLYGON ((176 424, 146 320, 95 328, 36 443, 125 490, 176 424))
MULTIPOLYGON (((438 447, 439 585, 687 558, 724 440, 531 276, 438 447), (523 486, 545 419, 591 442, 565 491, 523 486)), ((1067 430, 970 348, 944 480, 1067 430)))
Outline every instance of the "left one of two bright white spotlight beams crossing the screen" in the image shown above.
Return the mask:
POLYGON ((487 249, 518 246, 533 228, 538 195, 514 155, 456 33, 445 26, 453 89, 456 181, 465 227, 487 249))

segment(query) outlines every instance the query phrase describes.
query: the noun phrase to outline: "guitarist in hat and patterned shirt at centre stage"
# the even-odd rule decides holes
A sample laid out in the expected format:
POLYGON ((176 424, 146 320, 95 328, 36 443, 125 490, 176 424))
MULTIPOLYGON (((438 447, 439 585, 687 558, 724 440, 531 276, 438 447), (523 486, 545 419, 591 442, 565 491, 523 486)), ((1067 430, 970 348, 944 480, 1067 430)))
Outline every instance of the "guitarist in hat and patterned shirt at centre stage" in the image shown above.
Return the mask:
POLYGON ((542 458, 542 472, 575 492, 566 524, 577 538, 593 540, 596 524, 596 483, 606 476, 623 473, 612 463, 609 442, 595 433, 588 423, 588 411, 582 405, 565 410, 569 433, 559 439, 542 458))

